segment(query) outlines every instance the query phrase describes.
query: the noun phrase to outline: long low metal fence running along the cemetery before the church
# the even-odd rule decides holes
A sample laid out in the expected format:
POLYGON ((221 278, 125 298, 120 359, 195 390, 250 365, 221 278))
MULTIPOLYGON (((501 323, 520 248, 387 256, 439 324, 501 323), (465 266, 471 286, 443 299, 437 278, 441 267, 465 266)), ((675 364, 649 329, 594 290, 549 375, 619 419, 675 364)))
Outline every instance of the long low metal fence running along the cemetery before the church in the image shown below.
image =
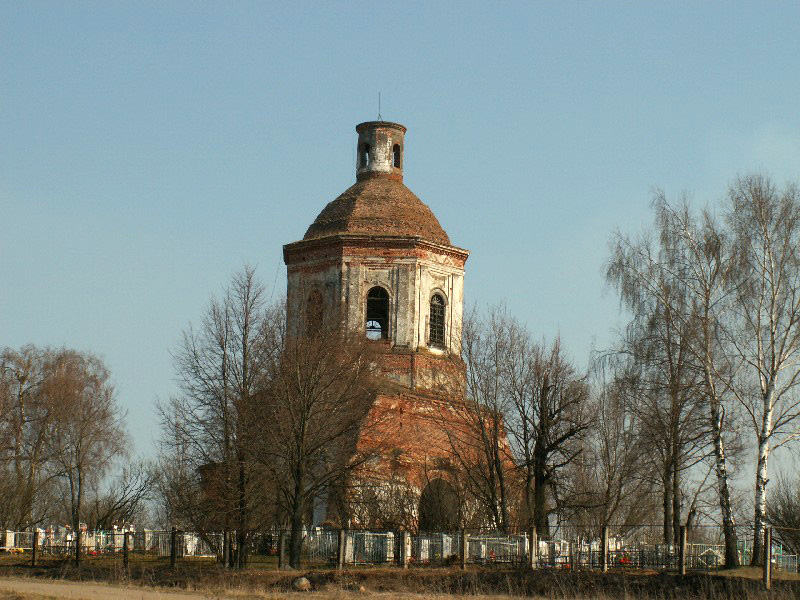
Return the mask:
MULTIPOLYGON (((599 569, 605 558, 611 569, 681 569, 679 544, 657 541, 654 527, 627 528, 625 533, 607 533, 607 550, 596 532, 555 530, 550 539, 538 539, 535 556, 527 533, 455 532, 410 533, 311 528, 302 532, 300 560, 304 566, 364 567, 448 566, 448 565, 527 565, 536 568, 599 569)), ((0 550, 33 554, 42 560, 73 556, 75 535, 66 528, 33 531, 0 531, 0 550)), ((725 549, 719 532, 713 528, 694 531, 684 547, 686 569, 710 570, 724 566, 725 549)), ((198 559, 221 562, 226 549, 222 533, 196 533, 178 530, 85 531, 80 535, 81 554, 125 560, 198 559)), ((236 536, 227 538, 228 551, 236 555, 236 536)), ((740 564, 748 564, 752 552, 748 538, 738 545, 740 564)), ((245 564, 278 568, 286 562, 289 532, 271 530, 249 536, 245 564)), ((798 572, 798 556, 780 542, 772 543, 772 568, 798 572)))

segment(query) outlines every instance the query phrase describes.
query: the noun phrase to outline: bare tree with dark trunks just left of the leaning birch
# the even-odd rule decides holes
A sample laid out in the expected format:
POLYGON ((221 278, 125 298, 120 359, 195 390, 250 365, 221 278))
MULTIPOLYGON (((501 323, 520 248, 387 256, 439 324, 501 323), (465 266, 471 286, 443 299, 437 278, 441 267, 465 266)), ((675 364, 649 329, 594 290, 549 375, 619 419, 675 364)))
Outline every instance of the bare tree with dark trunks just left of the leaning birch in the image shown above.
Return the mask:
POLYGON ((686 261, 670 230, 659 225, 658 244, 617 234, 607 279, 632 312, 623 353, 637 368, 642 435, 653 443, 650 456, 663 490, 663 536, 677 543, 681 524, 681 477, 703 459, 708 437, 704 402, 693 362, 696 319, 684 280, 686 261))

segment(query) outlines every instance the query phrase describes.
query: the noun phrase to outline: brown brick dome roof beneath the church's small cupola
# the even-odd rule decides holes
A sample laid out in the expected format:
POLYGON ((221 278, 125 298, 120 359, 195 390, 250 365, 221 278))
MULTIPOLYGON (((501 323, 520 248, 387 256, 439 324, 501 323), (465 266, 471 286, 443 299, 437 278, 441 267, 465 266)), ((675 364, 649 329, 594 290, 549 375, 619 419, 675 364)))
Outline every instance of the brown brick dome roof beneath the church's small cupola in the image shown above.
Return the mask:
POLYGON ((342 233, 420 237, 450 245, 439 221, 402 181, 368 177, 322 209, 304 240, 342 233))

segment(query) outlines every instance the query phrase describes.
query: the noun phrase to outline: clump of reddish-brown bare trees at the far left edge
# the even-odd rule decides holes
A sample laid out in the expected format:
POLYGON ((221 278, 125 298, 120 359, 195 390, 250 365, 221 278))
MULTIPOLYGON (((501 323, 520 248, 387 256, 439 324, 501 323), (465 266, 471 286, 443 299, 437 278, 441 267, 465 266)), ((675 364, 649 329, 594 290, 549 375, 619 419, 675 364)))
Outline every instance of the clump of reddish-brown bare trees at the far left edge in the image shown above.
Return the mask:
POLYGON ((102 361, 73 350, 5 350, 0 359, 0 520, 22 528, 59 515, 74 527, 86 490, 124 454, 123 415, 102 361), (59 494, 61 483, 65 494, 59 494), (60 506, 59 496, 66 499, 60 506))

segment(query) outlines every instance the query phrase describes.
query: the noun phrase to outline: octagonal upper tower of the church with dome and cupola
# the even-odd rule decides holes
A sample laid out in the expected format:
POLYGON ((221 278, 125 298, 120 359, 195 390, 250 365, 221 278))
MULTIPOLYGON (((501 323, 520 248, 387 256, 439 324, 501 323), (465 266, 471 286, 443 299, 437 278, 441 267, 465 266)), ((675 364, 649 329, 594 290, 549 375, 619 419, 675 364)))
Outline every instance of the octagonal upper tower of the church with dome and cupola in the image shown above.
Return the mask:
POLYGON ((355 184, 284 246, 289 329, 302 335, 315 319, 339 320, 381 345, 393 382, 455 385, 442 374, 463 367, 468 253, 403 184, 406 128, 369 121, 356 132, 355 184))

